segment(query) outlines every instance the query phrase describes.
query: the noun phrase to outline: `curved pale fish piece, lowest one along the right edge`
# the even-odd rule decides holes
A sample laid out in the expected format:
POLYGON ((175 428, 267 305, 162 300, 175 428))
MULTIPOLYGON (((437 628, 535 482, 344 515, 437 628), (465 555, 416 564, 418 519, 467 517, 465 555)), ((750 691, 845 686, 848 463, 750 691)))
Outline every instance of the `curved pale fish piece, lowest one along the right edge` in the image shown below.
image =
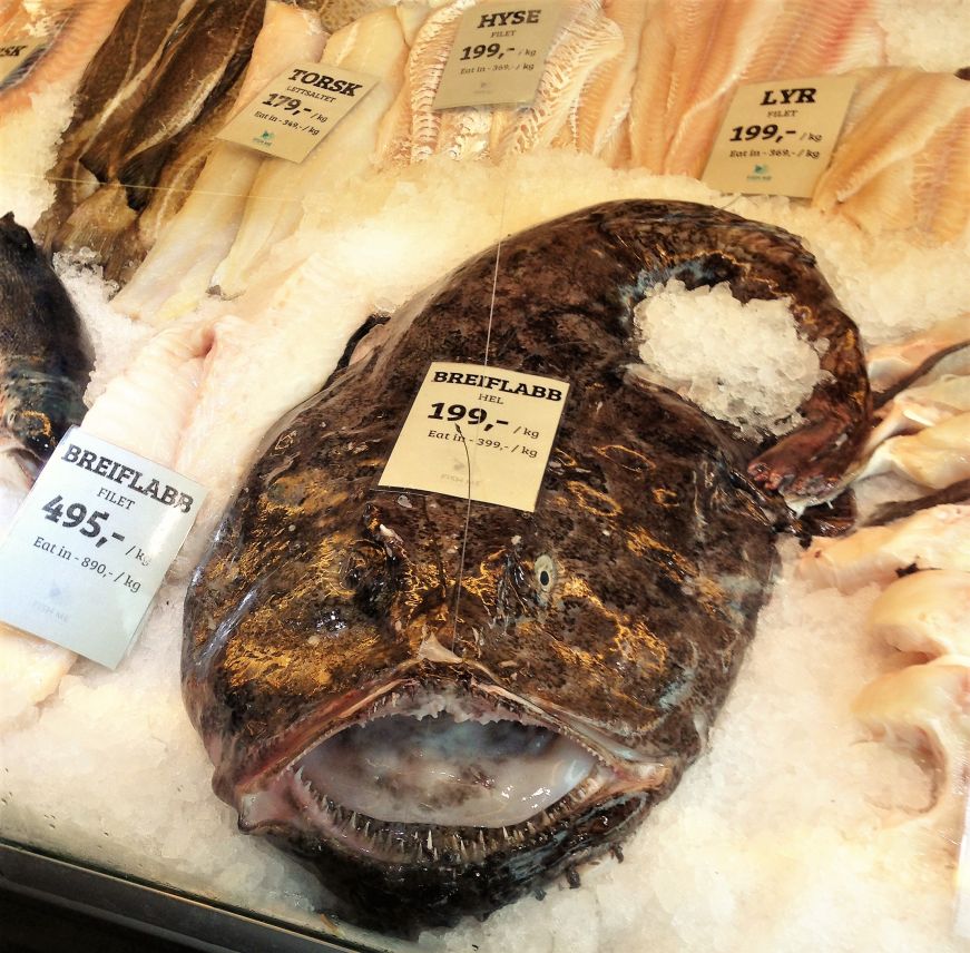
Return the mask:
POLYGON ((943 656, 884 675, 862 690, 853 711, 874 738, 935 762, 934 803, 913 823, 956 841, 970 747, 970 657, 943 656))

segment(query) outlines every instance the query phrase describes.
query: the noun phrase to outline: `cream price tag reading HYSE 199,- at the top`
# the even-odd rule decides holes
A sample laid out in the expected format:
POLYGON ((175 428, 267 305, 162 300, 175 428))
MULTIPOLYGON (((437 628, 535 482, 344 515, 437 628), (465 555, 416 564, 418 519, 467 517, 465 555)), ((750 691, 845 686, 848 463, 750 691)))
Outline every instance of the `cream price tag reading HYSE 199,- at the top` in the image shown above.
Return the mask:
POLYGON ((526 0, 467 10, 432 108, 531 102, 561 9, 556 0, 526 0))

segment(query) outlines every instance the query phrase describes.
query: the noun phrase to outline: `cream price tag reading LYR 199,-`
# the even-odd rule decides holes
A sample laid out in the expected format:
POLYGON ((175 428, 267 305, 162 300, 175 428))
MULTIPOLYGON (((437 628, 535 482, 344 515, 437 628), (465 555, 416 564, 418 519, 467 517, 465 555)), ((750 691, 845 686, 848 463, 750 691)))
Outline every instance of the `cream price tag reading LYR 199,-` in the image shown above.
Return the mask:
POLYGON ((855 82, 851 76, 820 76, 738 87, 704 181, 721 191, 811 198, 855 82))

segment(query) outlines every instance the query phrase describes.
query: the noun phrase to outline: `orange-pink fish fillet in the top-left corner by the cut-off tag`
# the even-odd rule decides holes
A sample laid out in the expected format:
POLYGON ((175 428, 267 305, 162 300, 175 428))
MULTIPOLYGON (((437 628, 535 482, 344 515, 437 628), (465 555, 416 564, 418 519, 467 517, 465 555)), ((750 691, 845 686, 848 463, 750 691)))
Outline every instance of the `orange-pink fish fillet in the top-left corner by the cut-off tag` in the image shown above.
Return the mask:
POLYGON ((28 36, 49 36, 50 45, 32 65, 0 86, 0 112, 31 108, 31 96, 57 83, 74 92, 88 62, 111 32, 127 0, 47 0, 12 4, 0 24, 0 45, 28 36))

